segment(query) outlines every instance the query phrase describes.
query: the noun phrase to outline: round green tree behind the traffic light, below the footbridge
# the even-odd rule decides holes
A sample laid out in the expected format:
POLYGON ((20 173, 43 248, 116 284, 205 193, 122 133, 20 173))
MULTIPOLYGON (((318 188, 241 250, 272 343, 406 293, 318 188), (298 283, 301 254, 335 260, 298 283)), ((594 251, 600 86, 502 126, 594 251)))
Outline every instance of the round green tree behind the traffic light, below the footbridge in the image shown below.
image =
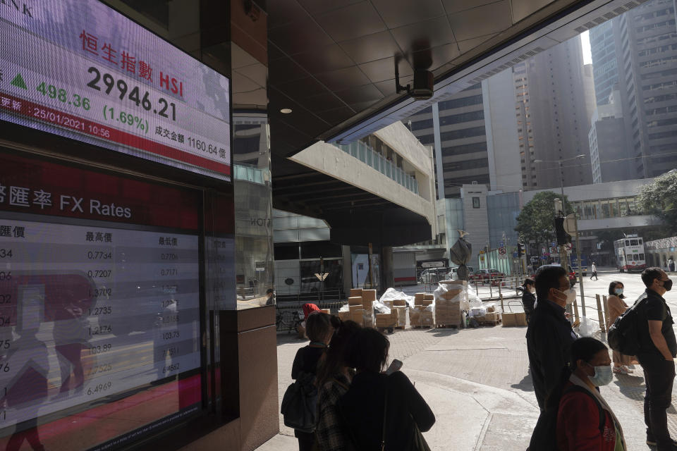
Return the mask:
MULTIPOLYGON (((517 217, 515 230, 524 242, 536 242, 537 246, 555 241, 555 199, 562 195, 553 191, 539 192, 523 207, 517 217)), ((564 196, 566 213, 573 213, 573 208, 564 196)))

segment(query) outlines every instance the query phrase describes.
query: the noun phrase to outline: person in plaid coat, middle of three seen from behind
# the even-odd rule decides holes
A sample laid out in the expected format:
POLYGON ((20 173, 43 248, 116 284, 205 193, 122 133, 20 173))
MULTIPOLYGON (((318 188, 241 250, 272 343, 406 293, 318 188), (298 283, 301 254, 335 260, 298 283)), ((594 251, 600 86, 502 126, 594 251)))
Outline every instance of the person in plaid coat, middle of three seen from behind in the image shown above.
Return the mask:
POLYGON ((348 392, 355 371, 346 363, 348 344, 360 325, 355 321, 341 321, 331 316, 334 336, 331 337, 327 354, 317 368, 317 428, 315 439, 320 451, 345 451, 350 444, 346 428, 338 411, 338 400, 348 392))

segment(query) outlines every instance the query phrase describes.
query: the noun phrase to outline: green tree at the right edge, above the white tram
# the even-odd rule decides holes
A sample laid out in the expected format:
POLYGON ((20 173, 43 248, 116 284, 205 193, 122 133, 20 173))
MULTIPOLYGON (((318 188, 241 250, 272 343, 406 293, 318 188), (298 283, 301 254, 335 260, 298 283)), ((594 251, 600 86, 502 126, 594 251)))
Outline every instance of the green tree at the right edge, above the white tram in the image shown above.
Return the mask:
POLYGON ((666 235, 677 234, 677 171, 654 178, 642 186, 637 204, 643 214, 652 214, 663 221, 666 235))

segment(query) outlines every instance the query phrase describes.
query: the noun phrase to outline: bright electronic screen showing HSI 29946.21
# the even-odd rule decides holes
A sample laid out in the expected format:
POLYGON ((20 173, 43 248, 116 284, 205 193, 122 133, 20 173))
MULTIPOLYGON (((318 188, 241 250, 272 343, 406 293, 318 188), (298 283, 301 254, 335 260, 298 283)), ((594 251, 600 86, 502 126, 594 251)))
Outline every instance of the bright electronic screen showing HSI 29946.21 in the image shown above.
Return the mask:
POLYGON ((100 1, 0 1, 0 121, 231 180, 229 89, 100 1))

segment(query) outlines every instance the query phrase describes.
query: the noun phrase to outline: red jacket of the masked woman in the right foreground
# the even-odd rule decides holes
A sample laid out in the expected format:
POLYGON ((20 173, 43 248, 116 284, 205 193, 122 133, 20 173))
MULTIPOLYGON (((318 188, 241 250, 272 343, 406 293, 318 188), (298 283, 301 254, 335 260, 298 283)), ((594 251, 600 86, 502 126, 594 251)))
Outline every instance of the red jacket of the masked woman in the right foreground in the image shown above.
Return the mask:
MULTIPOLYGON (((564 390, 573 383, 567 382, 564 390)), ((562 396, 557 414, 559 451, 614 451, 616 426, 604 409, 604 433, 599 431, 599 408, 587 393, 570 392, 562 396)))

